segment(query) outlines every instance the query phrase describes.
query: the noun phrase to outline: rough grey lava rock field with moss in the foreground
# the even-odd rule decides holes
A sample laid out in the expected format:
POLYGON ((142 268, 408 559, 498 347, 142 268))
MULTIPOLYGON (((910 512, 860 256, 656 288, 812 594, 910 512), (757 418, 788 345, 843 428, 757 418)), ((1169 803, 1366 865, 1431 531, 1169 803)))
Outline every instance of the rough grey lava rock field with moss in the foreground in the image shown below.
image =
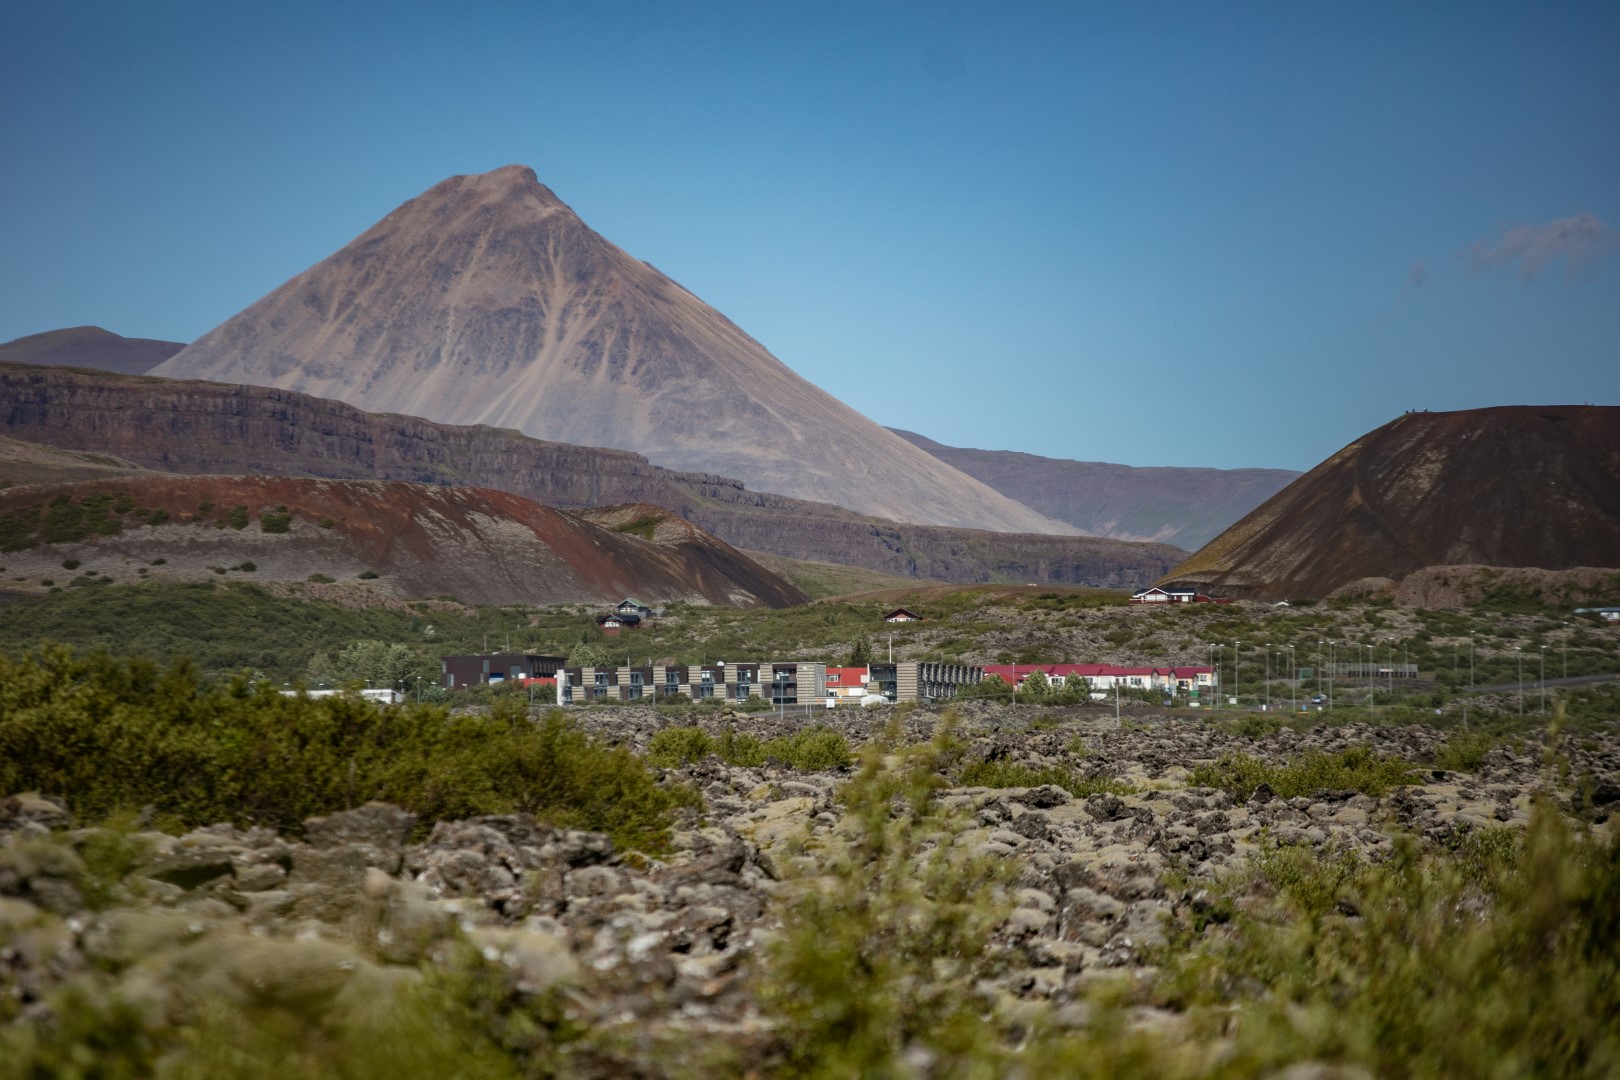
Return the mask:
MULTIPOLYGON (((1246 737, 1163 717, 1121 729, 1089 709, 964 711, 961 759, 1063 766, 1129 790, 1079 798, 1043 784, 943 797, 962 814, 972 852, 1016 866, 1011 915, 982 957, 980 989, 1014 1009, 1050 1002, 1056 1023, 1085 1023, 1084 997, 1098 980, 1150 973, 1171 916, 1207 905, 1207 886, 1241 871, 1262 844, 1375 857, 1395 832, 1445 842, 1523 826, 1537 790, 1570 797, 1542 746, 1521 742, 1494 746, 1471 774, 1427 769, 1421 784, 1377 798, 1280 798, 1262 787, 1239 801, 1189 785, 1189 769, 1231 751, 1286 763, 1353 745, 1426 763, 1447 735, 1353 725, 1246 737)), ((638 750, 669 724, 653 709, 582 717, 638 750)), ((880 712, 831 719, 857 745, 885 724, 880 712)), ((904 735, 927 740, 936 721, 910 712, 904 735)), ((732 725, 765 738, 799 724, 705 722, 711 733, 732 725)), ((1567 776, 1594 777, 1588 813, 1605 823, 1620 801, 1620 735, 1568 740, 1563 753, 1567 776)), ((528 816, 429 824, 369 803, 309 819, 301 837, 228 823, 170 836, 141 823, 84 827, 49 795, 13 795, 0 801, 0 988, 10 999, 0 1018, 49 1023, 53 991, 70 984, 115 991, 147 1017, 206 1001, 347 1015, 475 955, 501 973, 504 993, 619 1033, 617 1056, 578 1062, 586 1074, 624 1075, 638 1061, 659 1075, 645 1048, 682 1035, 768 1048, 755 980, 781 899, 847 831, 839 789, 849 776, 713 756, 672 769, 666 780, 698 789, 706 811, 688 814, 659 858, 528 816)), ((1176 1023, 1149 1007, 1134 1018, 1176 1023)))

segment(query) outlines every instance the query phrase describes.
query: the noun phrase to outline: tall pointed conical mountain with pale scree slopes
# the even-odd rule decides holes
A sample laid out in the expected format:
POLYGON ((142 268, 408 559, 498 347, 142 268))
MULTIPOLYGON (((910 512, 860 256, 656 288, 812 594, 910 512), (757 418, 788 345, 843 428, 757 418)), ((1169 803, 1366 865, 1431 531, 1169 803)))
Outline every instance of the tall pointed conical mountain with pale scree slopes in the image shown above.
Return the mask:
POLYGON ((619 447, 901 521, 1072 533, 795 376, 522 165, 405 202, 154 374, 619 447))

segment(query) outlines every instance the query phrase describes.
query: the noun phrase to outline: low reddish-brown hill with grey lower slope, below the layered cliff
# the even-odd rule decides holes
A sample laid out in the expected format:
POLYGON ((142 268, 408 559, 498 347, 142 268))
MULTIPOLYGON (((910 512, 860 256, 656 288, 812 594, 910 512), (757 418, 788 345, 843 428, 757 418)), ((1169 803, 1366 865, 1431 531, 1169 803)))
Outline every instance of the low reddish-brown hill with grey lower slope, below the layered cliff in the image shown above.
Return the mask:
POLYGON ((389 596, 450 594, 473 604, 625 596, 734 607, 805 602, 797 588, 701 529, 654 507, 632 513, 648 523, 646 536, 475 487, 138 476, 0 491, 0 560, 13 589, 65 583, 75 572, 118 581, 224 570, 253 581, 321 575, 366 581, 389 596))

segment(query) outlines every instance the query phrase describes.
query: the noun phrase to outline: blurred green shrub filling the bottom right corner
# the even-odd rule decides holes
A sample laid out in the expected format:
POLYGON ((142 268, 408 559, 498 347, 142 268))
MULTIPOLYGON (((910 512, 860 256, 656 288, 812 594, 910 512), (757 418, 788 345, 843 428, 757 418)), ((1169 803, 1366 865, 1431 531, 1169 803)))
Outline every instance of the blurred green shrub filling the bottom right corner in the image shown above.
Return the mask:
POLYGON ((1273 848, 1223 928, 1171 960, 1165 1002, 1225 1017, 1231 1075, 1343 1062, 1398 1077, 1620 1070, 1620 845, 1545 805, 1523 834, 1393 857, 1273 848), (1265 899, 1265 892, 1270 899, 1265 899))

